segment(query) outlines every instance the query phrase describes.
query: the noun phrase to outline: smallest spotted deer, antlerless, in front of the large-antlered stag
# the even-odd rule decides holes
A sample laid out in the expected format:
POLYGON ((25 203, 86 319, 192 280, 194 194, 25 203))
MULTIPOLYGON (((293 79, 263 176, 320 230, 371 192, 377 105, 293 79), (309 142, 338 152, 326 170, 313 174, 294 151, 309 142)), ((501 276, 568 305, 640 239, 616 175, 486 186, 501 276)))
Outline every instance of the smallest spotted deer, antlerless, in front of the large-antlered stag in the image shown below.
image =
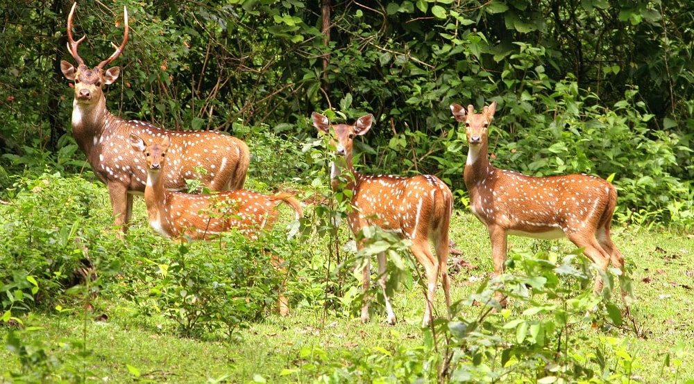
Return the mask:
MULTIPOLYGON (((166 238, 208 240, 238 229, 244 236, 255 239, 277 221, 280 213, 276 208, 282 202, 294 209, 297 220, 303 216, 301 203, 289 193, 264 195, 239 189, 194 195, 169 191, 164 185, 164 172, 170 162, 171 137, 167 134, 160 143, 148 145, 141 137, 130 134, 130 146, 144 153, 147 167, 144 202, 149 225, 166 238)), ((280 295, 280 313, 286 315, 288 311, 287 299, 280 295)))

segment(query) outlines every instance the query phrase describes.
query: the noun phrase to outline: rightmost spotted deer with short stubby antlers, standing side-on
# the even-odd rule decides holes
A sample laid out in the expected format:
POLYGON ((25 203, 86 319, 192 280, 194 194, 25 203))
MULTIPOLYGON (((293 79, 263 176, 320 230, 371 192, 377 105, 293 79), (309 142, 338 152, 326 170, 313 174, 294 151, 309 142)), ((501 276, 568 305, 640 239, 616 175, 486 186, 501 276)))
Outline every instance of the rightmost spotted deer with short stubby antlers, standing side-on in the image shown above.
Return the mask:
MULTIPOLYGON (((494 274, 504 272, 507 235, 555 239, 566 236, 600 270, 610 261, 624 272, 624 256, 612 243, 610 222, 617 191, 609 182, 589 175, 532 177, 495 168, 487 159, 487 128, 496 111, 496 101, 475 114, 472 105, 464 110, 452 104, 457 121, 465 123, 468 159, 465 186, 470 207, 486 225, 491 239, 494 274)), ((595 295, 602 292, 602 277, 595 278, 595 295)), ((622 299, 625 302, 625 290, 622 299)), ((506 299, 500 299, 502 306, 506 299)), ((628 310, 628 306, 627 306, 628 310)))

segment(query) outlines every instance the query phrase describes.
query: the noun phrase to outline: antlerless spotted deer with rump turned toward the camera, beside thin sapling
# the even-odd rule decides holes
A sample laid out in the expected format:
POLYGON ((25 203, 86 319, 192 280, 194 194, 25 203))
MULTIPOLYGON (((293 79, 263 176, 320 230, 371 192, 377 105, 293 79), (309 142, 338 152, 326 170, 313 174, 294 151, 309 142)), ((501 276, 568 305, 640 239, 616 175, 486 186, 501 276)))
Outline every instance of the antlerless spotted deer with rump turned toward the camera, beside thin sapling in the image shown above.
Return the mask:
MULTIPOLYGON (((448 227, 453 210, 453 195, 450 189, 439 178, 433 175, 414 177, 397 177, 390 175, 362 175, 355 171, 352 164, 352 145, 357 134, 363 135, 371 129, 373 115, 359 117, 353 125, 330 125, 328 118, 313 112, 313 125, 323 134, 333 135, 337 159, 332 164, 332 189, 339 188, 338 177, 343 172, 350 173, 347 189, 352 191, 352 210, 347 221, 355 236, 366 226, 375 225, 385 231, 394 232, 400 238, 412 241, 409 249, 416 260, 424 266, 428 281, 428 290, 424 307, 422 325, 427 326, 432 320, 434 292, 437 288, 439 274, 443 293, 446 295, 446 308, 450 308, 450 281, 448 279, 448 227), (332 131, 332 132, 331 132, 332 131), (436 247, 437 257, 430 250, 429 241, 436 247)), ((357 242, 361 250, 364 243, 357 242)), ((390 299, 386 293, 386 256, 380 253, 378 274, 383 289, 387 322, 395 324, 396 317, 390 299)), ((367 264, 362 270, 362 289, 369 290, 371 268, 367 264)), ((362 306, 362 322, 369 321, 369 302, 362 306)))

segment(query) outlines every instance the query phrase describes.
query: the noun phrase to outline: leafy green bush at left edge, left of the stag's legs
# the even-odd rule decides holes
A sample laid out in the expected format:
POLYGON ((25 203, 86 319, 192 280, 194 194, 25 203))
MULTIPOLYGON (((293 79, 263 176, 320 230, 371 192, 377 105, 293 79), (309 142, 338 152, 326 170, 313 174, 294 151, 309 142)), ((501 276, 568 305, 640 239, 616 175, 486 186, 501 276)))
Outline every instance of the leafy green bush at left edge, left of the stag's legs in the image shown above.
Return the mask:
POLYGON ((83 281, 81 268, 101 262, 101 254, 90 259, 89 249, 101 243, 98 228, 111 215, 97 208, 108 205, 103 188, 81 177, 44 173, 15 180, 10 204, 0 205, 0 308, 49 308, 83 281))

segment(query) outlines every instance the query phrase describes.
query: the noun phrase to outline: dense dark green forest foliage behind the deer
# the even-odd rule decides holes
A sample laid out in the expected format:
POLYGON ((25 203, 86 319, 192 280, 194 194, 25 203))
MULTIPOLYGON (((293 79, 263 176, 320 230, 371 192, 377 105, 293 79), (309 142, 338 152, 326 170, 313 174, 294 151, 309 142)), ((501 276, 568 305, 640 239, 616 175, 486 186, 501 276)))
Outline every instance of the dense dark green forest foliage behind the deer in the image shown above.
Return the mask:
MULTIPOLYGON (((70 1, 6 1, 0 15, 0 182, 77 171, 71 89, 59 71, 70 1), (67 134, 66 134, 67 133, 67 134)), ((153 1, 78 6, 87 64, 130 42, 110 86, 121 116, 253 140, 264 127, 300 141, 313 110, 373 113, 364 163, 437 173, 465 196, 466 146, 448 105, 500 108, 498 166, 609 177, 620 211, 691 223, 694 68, 688 1, 153 1), (457 133, 456 133, 457 132, 457 133), (397 161, 392 161, 397 160, 397 161), (398 166, 393 166, 397 164, 398 166), (403 164, 405 167, 403 167, 403 164)))

